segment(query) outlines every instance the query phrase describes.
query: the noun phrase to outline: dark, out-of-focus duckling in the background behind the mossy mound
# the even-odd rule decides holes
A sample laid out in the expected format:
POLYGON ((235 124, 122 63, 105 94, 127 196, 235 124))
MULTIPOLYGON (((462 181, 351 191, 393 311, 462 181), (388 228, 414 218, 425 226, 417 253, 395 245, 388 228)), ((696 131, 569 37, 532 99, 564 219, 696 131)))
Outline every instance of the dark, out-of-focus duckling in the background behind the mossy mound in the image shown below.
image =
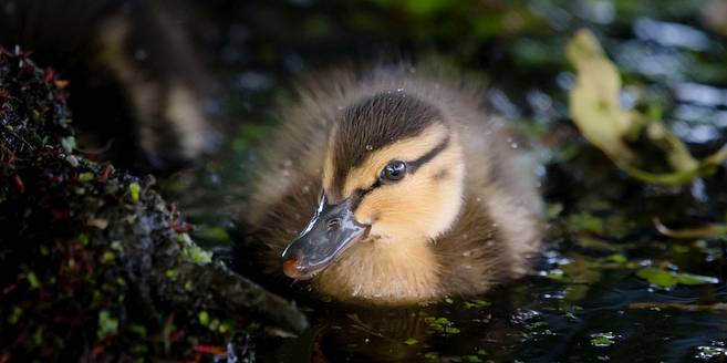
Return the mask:
POLYGON ((169 170, 218 143, 205 112, 212 77, 185 32, 184 12, 194 9, 172 0, 6 0, 0 46, 18 45, 70 80, 82 148, 117 166, 169 170))

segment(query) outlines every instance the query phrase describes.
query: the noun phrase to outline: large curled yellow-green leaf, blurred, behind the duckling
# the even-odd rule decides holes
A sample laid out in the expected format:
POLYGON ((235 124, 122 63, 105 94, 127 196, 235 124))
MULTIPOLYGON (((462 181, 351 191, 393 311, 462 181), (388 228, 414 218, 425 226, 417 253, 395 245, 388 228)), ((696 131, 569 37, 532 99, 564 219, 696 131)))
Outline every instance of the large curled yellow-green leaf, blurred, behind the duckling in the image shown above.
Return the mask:
POLYGON ((567 55, 578 77, 570 93, 570 114, 583 136, 603 151, 617 167, 634 178, 654 184, 686 184, 714 173, 727 159, 727 145, 702 162, 666 128, 658 116, 647 117, 620 105, 621 75, 605 56, 601 44, 588 30, 580 30, 568 43, 567 55), (654 118, 654 120, 652 120, 654 118), (637 153, 626 145, 642 131, 668 160, 673 173, 650 173, 640 165, 637 153))

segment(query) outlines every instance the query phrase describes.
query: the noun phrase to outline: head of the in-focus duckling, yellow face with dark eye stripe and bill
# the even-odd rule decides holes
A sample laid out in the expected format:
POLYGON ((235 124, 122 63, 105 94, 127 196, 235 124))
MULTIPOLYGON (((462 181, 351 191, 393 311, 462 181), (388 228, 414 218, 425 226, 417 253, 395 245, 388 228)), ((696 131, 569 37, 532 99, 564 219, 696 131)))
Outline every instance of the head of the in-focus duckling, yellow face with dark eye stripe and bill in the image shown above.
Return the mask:
POLYGON ((415 257, 461 207, 463 151, 440 107, 383 92, 354 100, 336 118, 319 206, 282 253, 283 272, 294 279, 312 278, 341 259, 354 261, 347 273, 357 273, 380 263, 376 258, 415 257))

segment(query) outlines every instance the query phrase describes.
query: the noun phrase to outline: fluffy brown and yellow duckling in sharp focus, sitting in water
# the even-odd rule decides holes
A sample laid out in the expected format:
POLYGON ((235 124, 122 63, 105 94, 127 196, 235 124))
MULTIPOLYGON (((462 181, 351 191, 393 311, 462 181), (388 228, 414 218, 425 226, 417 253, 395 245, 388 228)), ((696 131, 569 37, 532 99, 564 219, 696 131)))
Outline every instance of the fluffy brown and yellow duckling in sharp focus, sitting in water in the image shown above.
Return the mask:
POLYGON ((243 217, 270 270, 378 305, 482 293, 529 270, 534 176, 475 87, 412 70, 323 74, 283 110, 243 217))

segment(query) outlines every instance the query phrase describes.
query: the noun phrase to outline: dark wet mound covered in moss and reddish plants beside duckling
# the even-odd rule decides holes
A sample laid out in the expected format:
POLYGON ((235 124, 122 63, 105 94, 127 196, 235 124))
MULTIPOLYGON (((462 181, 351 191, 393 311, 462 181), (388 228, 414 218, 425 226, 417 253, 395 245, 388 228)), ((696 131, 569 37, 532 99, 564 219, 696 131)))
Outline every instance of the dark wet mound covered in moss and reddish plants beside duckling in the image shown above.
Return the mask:
POLYGON ((0 362, 233 354, 258 322, 304 330, 191 241, 154 178, 74 153, 64 85, 0 49, 0 362))

